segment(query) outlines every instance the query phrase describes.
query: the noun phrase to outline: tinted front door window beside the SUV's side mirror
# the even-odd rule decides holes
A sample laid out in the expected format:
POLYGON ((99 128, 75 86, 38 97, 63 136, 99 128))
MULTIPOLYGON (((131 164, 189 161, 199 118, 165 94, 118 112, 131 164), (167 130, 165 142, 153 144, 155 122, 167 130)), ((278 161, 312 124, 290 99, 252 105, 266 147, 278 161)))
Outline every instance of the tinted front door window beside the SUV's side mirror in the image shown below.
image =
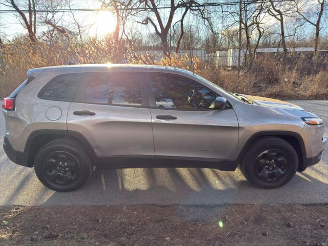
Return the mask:
POLYGON ((214 108, 216 94, 201 84, 171 74, 151 74, 157 108, 202 110, 214 108))

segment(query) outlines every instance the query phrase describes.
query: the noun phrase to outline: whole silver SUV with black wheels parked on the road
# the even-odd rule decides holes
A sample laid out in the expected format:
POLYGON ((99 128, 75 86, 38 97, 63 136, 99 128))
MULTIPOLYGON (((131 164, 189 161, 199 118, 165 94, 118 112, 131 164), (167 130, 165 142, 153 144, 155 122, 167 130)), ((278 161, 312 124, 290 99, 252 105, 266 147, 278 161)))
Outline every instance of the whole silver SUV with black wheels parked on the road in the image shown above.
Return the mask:
POLYGON ((277 188, 319 162, 320 117, 270 98, 224 91, 158 66, 37 68, 3 100, 4 149, 55 191, 83 186, 94 167, 234 171, 277 188))

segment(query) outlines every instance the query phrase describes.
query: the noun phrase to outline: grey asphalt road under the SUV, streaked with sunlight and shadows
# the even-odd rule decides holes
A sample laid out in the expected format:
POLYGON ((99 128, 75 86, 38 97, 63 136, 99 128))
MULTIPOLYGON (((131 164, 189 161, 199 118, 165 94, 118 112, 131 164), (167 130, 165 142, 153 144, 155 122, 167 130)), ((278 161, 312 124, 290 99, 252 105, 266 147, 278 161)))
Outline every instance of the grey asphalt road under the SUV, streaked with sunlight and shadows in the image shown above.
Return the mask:
MULTIPOLYGON (((328 125, 328 101, 294 101, 305 110, 323 117, 328 125)), ((1 142, 4 117, 0 116, 1 142)), ((328 129, 326 133, 328 136, 328 129)), ((216 206, 243 203, 328 202, 328 150, 322 160, 288 185, 275 190, 254 188, 241 172, 212 169, 121 169, 97 170, 81 189, 54 192, 42 185, 32 168, 11 162, 1 148, 0 205, 94 205, 94 204, 185 204, 216 206)))

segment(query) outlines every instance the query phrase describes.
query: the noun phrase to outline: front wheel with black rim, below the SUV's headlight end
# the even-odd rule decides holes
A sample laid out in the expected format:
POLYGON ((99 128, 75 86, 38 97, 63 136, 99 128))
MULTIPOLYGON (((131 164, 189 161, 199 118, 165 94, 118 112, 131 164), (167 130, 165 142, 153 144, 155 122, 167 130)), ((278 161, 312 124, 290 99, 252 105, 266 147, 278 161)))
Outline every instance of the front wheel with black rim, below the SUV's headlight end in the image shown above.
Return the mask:
POLYGON ((274 189, 288 183, 298 169, 298 156, 288 142, 278 137, 262 137, 245 154, 240 169, 254 186, 274 189))

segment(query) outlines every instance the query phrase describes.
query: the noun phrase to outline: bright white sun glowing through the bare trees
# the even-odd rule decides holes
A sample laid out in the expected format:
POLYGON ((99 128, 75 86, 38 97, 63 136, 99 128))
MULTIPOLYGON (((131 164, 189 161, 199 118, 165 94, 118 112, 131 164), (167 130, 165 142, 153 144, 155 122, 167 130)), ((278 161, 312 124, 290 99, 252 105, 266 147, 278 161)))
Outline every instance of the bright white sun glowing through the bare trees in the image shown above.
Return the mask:
POLYGON ((96 13, 95 31, 97 36, 104 36, 115 31, 116 18, 108 11, 96 13))

